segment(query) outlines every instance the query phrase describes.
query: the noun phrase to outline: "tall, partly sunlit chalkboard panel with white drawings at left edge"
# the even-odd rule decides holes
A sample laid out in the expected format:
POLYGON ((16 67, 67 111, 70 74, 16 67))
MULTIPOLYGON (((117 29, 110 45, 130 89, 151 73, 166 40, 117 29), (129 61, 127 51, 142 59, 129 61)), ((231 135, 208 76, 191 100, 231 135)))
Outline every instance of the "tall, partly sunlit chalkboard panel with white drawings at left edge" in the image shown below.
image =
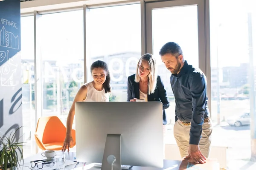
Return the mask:
POLYGON ((22 126, 21 85, 20 0, 3 0, 0 1, 0 136, 22 126))

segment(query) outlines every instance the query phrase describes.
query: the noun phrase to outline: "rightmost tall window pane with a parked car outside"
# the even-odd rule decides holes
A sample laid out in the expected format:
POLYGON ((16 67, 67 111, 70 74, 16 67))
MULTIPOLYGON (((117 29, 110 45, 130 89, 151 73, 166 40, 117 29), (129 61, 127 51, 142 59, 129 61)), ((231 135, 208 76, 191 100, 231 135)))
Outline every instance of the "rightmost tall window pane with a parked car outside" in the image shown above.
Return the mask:
POLYGON ((256 130, 251 119, 255 116, 256 93, 251 87, 256 87, 256 67, 250 67, 256 63, 256 53, 251 53, 256 51, 256 13, 250 6, 255 4, 249 0, 210 0, 211 102, 216 125, 212 144, 229 147, 230 169, 252 168, 243 165, 256 158, 250 140, 256 137, 250 135, 256 130))

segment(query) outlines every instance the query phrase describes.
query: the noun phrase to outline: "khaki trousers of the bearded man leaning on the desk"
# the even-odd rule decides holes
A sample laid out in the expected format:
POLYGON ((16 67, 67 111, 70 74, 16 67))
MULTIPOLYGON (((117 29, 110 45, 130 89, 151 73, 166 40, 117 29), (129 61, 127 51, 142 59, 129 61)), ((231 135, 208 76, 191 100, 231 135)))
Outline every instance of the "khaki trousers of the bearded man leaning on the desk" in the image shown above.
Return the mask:
MULTIPOLYGON (((189 149, 189 133, 190 133, 190 125, 183 125, 177 120, 174 124, 174 137, 177 142, 177 145, 180 149, 180 156, 183 158, 184 156, 188 156, 189 149)), ((211 146, 211 134, 212 134, 212 121, 205 122, 202 125, 202 134, 199 142, 199 147, 201 153, 209 158, 210 146, 211 146)))

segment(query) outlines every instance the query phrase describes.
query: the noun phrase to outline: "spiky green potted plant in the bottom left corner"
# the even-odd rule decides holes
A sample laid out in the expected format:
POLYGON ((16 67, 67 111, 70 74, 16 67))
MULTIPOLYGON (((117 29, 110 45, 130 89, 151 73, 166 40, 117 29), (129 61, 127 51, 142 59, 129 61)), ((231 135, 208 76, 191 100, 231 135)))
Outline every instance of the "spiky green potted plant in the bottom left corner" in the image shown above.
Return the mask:
POLYGON ((23 162, 23 142, 18 142, 22 136, 15 139, 15 134, 20 128, 9 136, 0 137, 0 170, 19 169, 21 161, 23 162))

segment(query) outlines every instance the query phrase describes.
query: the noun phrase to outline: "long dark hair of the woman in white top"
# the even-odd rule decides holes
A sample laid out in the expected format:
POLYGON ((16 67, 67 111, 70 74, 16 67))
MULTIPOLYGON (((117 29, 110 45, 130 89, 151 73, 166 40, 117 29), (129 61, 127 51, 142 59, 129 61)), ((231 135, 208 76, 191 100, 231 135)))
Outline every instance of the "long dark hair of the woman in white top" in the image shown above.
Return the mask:
POLYGON ((93 62, 93 64, 91 65, 91 73, 93 71, 94 68, 102 68, 103 70, 105 70, 107 72, 107 77, 105 82, 103 83, 103 88, 105 89, 105 93, 111 92, 111 88, 110 88, 110 74, 108 71, 108 65, 106 62, 101 61, 101 60, 97 60, 95 62, 93 62))

